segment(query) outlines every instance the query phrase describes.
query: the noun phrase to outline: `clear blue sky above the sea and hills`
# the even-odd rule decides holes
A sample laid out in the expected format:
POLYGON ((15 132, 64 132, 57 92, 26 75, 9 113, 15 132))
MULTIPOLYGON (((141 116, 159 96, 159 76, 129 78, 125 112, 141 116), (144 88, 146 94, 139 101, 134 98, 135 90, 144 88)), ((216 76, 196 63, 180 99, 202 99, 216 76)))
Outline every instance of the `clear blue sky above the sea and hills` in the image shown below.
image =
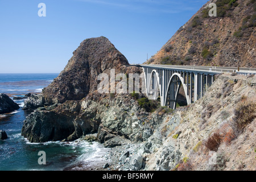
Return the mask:
POLYGON ((0 73, 59 73, 105 36, 130 64, 154 55, 207 0, 0 0, 0 73), (39 3, 46 17, 39 17, 39 3))

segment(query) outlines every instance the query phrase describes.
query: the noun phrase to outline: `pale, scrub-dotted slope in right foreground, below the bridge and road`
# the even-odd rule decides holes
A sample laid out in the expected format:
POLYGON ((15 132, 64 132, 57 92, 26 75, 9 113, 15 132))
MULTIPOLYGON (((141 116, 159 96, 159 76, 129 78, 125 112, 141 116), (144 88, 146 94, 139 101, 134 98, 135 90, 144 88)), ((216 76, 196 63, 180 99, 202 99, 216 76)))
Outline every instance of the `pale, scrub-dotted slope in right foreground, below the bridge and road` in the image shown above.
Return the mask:
POLYGON ((111 168, 255 171, 255 86, 255 76, 220 75, 194 104, 176 111, 160 107, 146 118, 136 113, 146 120, 139 127, 152 125, 154 133, 114 150, 111 168))

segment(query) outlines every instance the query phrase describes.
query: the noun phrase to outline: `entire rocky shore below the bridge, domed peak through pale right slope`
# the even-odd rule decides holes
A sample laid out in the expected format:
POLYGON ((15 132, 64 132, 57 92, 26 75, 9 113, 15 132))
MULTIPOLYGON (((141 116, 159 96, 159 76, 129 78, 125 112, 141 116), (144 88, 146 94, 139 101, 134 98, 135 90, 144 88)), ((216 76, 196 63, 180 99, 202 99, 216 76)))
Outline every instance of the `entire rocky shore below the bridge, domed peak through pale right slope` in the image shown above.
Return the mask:
POLYGON ((220 75, 203 98, 174 111, 141 93, 98 93, 95 75, 112 68, 142 72, 127 67, 108 39, 84 40, 52 84, 25 101, 25 109, 34 112, 22 136, 69 142, 94 134, 90 142, 112 150, 102 154, 108 162, 84 170, 241 170, 239 161, 246 162, 242 169, 255 170, 255 76, 220 75), (84 88, 74 79, 85 80, 84 88))

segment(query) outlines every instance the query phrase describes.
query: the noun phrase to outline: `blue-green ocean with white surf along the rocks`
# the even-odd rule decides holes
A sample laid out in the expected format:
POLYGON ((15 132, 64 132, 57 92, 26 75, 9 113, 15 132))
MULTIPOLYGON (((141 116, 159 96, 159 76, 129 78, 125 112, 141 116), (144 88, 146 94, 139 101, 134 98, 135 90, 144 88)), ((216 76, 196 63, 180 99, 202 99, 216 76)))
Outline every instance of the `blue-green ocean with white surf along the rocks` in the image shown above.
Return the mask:
MULTIPOLYGON (((27 93, 40 93, 48 86, 57 73, 45 74, 0 74, 0 93, 10 98, 24 97, 27 93)), ((73 142, 30 143, 21 133, 23 121, 29 111, 22 110, 24 100, 14 100, 20 108, 11 113, 0 114, 0 130, 5 130, 8 138, 0 140, 0 171, 28 170, 90 170, 103 166, 102 158, 107 148, 98 142, 75 140, 73 142), (46 154, 46 164, 39 164, 39 151, 46 154)))

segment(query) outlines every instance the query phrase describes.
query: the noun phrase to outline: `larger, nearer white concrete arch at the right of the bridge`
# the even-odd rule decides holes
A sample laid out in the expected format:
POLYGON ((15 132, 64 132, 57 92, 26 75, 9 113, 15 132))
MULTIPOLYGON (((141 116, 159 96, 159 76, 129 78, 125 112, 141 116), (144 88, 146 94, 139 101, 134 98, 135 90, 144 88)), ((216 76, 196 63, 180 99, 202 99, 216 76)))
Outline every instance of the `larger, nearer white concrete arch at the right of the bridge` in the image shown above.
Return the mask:
POLYGON ((179 93, 181 86, 183 86, 187 104, 191 103, 187 93, 187 84, 184 84, 184 78, 180 73, 174 73, 168 82, 166 96, 164 97, 164 106, 169 106, 171 109, 176 109, 177 94, 179 93))

